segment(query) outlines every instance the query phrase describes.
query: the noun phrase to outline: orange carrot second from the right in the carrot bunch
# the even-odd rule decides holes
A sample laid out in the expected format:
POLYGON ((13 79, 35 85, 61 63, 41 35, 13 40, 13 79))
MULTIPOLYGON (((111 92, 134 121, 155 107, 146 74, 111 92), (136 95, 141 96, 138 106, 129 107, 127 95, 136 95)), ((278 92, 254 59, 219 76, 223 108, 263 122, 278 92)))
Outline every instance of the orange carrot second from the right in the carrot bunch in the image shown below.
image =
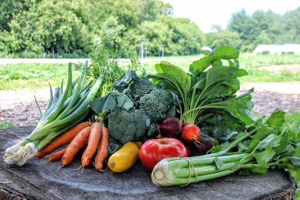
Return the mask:
POLYGON ((102 135, 101 123, 94 122, 90 128, 87 146, 84 149, 82 156, 81 156, 81 165, 83 167, 88 166, 90 164, 92 156, 97 149, 97 145, 99 143, 101 135, 102 135))

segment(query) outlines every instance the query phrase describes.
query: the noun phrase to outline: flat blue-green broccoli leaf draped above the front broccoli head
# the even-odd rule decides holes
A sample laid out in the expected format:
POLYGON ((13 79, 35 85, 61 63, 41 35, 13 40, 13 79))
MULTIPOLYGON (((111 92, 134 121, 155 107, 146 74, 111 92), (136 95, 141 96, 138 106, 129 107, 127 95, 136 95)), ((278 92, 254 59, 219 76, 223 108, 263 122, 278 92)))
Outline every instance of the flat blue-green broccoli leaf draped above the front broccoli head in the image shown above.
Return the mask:
POLYGON ((123 109, 128 110, 133 107, 133 105, 133 101, 127 95, 118 91, 112 91, 89 103, 90 108, 96 113, 101 113, 103 110, 111 110, 116 107, 122 107, 123 109))

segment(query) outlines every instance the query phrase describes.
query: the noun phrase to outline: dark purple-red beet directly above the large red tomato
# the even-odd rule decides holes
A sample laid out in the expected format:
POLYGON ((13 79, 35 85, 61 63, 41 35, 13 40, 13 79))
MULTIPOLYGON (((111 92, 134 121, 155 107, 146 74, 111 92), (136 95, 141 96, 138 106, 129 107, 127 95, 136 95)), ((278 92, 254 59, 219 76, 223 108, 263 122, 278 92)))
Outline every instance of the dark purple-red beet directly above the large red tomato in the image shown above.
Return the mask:
POLYGON ((179 138, 182 125, 181 121, 174 116, 166 116, 160 120, 156 130, 162 137, 179 138))

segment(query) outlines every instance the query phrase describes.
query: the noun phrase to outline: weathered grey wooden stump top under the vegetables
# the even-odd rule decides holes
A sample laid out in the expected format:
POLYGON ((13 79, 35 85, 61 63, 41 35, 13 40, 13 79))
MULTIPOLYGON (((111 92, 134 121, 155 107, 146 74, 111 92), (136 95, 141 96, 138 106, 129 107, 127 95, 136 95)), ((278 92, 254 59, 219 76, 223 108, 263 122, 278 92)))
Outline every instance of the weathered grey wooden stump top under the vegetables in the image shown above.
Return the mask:
POLYGON ((264 175, 231 174, 187 186, 156 186, 138 161, 123 173, 80 166, 80 156, 65 167, 48 156, 24 165, 6 164, 5 149, 25 138, 34 126, 0 129, 0 199, 294 199, 296 182, 288 172, 269 170, 264 175))

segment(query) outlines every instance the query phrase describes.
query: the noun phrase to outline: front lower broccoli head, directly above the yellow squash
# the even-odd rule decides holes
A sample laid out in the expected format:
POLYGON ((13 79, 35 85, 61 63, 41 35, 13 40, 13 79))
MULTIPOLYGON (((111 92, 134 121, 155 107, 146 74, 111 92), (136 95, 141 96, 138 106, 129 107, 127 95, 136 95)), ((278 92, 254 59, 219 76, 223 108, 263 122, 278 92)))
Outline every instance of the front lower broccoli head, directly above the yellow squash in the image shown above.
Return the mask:
POLYGON ((150 118, 142 109, 128 111, 117 107, 108 115, 108 132, 111 138, 124 144, 137 141, 147 134, 150 118))

